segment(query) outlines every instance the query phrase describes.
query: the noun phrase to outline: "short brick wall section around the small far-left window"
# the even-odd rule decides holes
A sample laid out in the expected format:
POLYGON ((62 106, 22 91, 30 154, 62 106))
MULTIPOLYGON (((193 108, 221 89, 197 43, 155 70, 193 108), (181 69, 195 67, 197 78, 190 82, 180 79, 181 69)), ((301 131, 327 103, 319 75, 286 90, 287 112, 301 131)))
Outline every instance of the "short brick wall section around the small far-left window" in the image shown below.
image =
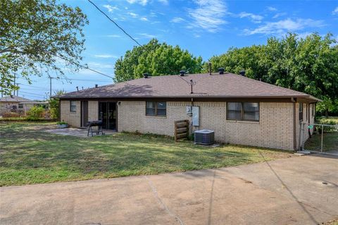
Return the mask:
POLYGON ((67 122, 70 126, 80 127, 80 101, 76 102, 76 112, 70 111, 70 101, 61 101, 61 121, 67 122))

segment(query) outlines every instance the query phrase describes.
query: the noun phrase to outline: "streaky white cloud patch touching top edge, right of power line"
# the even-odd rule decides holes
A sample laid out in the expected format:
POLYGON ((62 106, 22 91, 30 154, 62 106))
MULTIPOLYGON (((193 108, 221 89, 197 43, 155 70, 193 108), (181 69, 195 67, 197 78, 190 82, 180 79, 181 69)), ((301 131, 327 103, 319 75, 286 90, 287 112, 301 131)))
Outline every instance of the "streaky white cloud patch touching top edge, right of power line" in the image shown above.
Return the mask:
POLYGON ((193 19, 187 28, 201 28, 208 32, 218 32, 220 25, 227 23, 223 17, 227 13, 225 3, 220 0, 194 0, 198 6, 189 8, 188 14, 193 19))

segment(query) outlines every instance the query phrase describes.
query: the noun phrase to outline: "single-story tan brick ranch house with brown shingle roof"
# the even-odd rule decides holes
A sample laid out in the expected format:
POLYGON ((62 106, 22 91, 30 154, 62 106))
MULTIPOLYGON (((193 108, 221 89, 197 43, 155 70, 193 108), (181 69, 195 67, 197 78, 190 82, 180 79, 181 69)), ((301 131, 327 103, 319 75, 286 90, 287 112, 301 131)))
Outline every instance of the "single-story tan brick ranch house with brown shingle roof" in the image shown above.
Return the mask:
POLYGON ((191 130, 214 130, 218 142, 298 150, 300 122, 313 123, 318 100, 233 73, 145 76, 62 95, 60 118, 84 127, 101 113, 106 129, 173 136, 174 121, 197 116, 191 130))

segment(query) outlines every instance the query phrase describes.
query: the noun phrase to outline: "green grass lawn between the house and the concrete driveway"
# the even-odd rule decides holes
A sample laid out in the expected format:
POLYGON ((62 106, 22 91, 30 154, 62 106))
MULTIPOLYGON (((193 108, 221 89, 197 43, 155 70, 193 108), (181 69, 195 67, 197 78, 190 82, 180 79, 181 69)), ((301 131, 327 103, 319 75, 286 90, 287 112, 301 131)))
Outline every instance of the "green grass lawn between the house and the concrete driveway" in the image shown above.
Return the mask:
POLYGON ((292 152, 238 145, 205 147, 155 135, 94 138, 46 133, 55 123, 0 123, 0 186, 79 181, 236 166, 292 152))

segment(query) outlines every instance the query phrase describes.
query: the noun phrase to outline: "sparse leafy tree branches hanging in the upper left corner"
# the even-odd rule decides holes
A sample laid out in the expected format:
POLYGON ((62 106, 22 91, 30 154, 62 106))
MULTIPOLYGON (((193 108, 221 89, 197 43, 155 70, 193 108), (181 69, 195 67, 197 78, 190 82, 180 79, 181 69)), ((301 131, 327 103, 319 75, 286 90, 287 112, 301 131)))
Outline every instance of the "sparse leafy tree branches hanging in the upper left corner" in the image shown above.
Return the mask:
POLYGON ((0 7, 1 92, 18 89, 15 77, 30 83, 30 75, 59 77, 65 67, 79 69, 88 23, 80 8, 56 0, 1 0, 0 7))

